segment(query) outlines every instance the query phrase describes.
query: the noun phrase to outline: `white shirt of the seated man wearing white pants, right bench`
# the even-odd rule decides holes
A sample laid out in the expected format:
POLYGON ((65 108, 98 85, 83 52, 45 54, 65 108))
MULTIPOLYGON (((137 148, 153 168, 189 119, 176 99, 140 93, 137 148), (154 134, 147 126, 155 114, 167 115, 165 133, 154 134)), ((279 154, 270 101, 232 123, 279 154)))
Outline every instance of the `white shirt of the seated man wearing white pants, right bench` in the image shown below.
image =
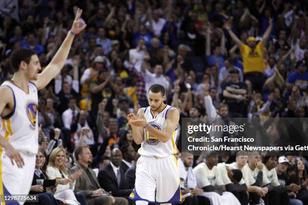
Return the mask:
POLYGON ((208 185, 223 185, 217 166, 209 169, 206 163, 202 162, 194 168, 194 173, 196 175, 198 188, 208 185))

